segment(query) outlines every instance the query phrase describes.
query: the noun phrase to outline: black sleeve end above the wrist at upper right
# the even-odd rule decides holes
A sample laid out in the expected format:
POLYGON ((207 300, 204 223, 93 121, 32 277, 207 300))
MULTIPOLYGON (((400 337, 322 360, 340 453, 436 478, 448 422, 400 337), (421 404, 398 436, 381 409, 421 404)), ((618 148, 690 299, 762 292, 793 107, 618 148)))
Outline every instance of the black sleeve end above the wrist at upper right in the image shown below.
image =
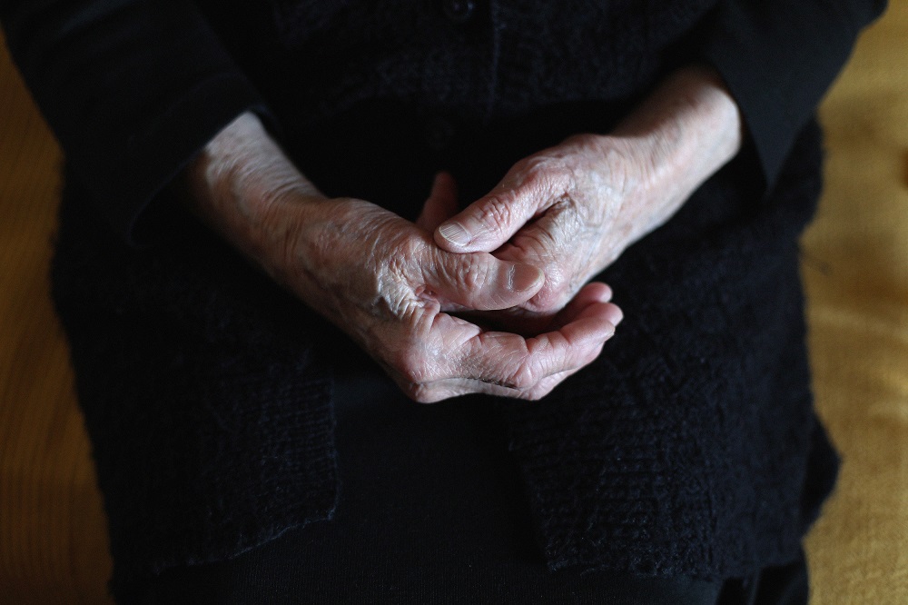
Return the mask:
POLYGON ((717 5, 701 56, 735 96, 767 191, 861 28, 885 6, 885 0, 725 0, 717 5))

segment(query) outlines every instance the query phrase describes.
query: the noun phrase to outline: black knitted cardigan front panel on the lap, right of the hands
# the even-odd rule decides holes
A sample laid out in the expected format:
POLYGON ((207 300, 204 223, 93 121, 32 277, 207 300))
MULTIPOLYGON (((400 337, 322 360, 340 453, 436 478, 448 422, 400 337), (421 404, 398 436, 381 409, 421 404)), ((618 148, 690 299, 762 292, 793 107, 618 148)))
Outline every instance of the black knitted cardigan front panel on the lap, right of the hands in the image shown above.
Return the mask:
POLYGON ((811 408, 796 251, 816 142, 795 150, 785 193, 738 223, 707 218, 742 199, 735 177, 707 184, 602 276, 627 319, 597 361, 538 405, 502 406, 552 569, 715 579, 796 552, 835 469, 811 408))

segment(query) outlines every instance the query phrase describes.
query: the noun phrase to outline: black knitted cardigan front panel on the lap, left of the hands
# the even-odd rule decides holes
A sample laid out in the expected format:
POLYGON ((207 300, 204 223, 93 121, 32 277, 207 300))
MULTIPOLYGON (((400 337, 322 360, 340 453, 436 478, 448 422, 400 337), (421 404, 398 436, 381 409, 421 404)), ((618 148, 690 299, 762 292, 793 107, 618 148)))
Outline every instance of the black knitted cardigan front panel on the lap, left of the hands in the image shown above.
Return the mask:
POLYGON ((86 220, 83 191, 70 185, 64 197, 54 302, 94 443, 115 588, 329 517, 331 379, 306 328, 319 320, 213 235, 181 237, 173 224, 169 253, 124 253, 86 220))

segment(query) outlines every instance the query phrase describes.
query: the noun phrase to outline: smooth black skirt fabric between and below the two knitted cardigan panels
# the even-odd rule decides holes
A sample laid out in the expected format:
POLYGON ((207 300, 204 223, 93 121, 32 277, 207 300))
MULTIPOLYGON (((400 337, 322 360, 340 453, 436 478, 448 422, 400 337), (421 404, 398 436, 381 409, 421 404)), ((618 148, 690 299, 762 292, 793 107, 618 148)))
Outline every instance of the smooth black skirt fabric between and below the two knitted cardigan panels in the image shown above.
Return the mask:
POLYGON ((124 603, 716 604, 718 581, 548 573, 494 406, 413 405, 352 348, 331 362, 334 518, 232 560, 164 571, 124 603))

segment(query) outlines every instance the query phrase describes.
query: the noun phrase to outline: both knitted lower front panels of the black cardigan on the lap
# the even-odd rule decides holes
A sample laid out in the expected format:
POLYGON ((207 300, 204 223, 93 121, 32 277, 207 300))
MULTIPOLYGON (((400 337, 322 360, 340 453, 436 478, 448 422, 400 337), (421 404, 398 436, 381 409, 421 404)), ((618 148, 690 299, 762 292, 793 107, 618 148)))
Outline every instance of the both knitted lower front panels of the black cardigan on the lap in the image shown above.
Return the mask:
MULTIPOLYGON (((543 402, 489 400, 549 569, 716 580, 799 551, 835 471, 797 283, 816 144, 814 128, 772 206, 737 191, 733 164, 629 249, 603 278, 636 311, 587 370, 543 402)), ((117 585, 330 517, 326 358, 343 337, 190 219, 135 251, 89 203, 71 185, 54 294, 117 585)))

